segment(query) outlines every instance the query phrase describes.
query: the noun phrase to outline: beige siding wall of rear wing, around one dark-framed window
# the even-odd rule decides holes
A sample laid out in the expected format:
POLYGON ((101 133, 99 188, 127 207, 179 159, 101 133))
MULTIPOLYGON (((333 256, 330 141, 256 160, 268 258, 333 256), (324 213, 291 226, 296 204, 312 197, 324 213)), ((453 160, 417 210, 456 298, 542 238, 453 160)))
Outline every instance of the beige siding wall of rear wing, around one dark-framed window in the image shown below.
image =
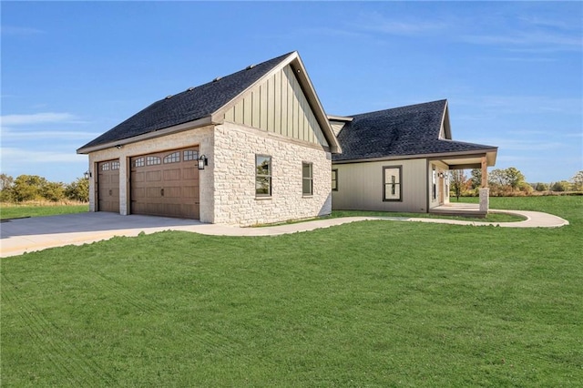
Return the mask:
POLYGON ((427 212, 426 159, 337 163, 332 209, 427 212), (402 200, 383 200, 383 168, 402 167, 402 200))

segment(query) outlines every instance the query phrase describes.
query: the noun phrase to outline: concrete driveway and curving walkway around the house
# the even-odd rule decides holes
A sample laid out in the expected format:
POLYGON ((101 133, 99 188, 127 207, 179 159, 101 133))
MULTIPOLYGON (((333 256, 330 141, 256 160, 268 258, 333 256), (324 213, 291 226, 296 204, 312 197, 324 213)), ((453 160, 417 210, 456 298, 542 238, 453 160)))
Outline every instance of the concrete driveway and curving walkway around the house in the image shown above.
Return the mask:
POLYGON ((184 230, 213 236, 276 236, 299 231, 329 228, 344 223, 363 220, 392 220, 435 222, 455 225, 487 226, 503 228, 557 228, 568 225, 567 220, 538 211, 490 210, 521 215, 527 220, 519 222, 483 222, 445 219, 399 217, 346 217, 341 219, 313 220, 295 224, 263 228, 240 228, 227 225, 205 224, 197 220, 179 220, 165 217, 120 216, 116 213, 97 212, 67 214, 8 220, 0 223, 0 257, 20 255, 35 250, 82 245, 108 240, 115 236, 138 236, 139 233, 155 233, 162 230, 184 230))

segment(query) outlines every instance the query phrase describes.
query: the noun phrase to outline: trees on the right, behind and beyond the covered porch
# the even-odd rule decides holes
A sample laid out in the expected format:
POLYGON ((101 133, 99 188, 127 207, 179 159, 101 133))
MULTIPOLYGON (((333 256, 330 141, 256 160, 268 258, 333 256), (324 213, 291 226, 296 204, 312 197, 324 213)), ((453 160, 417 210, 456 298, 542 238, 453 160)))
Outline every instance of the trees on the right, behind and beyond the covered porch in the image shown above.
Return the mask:
MULTIPOLYGON (((455 197, 477 195, 477 190, 482 185, 482 170, 480 168, 472 169, 470 177, 466 176, 463 169, 453 170, 450 174, 450 187, 455 197)), ((527 183, 525 176, 517 168, 496 168, 488 173, 488 188, 490 188, 490 195, 493 197, 531 195, 535 191, 582 191, 583 170, 578 171, 570 180, 527 183)))

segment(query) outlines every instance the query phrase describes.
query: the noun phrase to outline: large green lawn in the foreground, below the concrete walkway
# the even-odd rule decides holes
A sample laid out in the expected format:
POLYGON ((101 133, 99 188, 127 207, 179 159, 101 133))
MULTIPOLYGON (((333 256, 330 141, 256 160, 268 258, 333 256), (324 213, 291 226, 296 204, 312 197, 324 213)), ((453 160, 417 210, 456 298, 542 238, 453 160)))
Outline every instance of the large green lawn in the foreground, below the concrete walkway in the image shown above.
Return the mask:
POLYGON ((168 231, 7 258, 5 386, 580 386, 583 197, 560 229, 168 231))

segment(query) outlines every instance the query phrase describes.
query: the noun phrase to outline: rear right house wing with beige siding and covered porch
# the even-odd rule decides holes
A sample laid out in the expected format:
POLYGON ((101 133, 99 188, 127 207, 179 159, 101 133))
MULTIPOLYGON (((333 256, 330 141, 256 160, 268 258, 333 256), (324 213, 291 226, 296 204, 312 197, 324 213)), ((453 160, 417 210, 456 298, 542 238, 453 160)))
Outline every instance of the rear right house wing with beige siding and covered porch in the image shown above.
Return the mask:
POLYGON ((497 148, 452 140, 447 100, 329 118, 343 148, 332 156, 332 209, 442 210, 448 171, 482 168, 486 214, 486 168, 497 148))

